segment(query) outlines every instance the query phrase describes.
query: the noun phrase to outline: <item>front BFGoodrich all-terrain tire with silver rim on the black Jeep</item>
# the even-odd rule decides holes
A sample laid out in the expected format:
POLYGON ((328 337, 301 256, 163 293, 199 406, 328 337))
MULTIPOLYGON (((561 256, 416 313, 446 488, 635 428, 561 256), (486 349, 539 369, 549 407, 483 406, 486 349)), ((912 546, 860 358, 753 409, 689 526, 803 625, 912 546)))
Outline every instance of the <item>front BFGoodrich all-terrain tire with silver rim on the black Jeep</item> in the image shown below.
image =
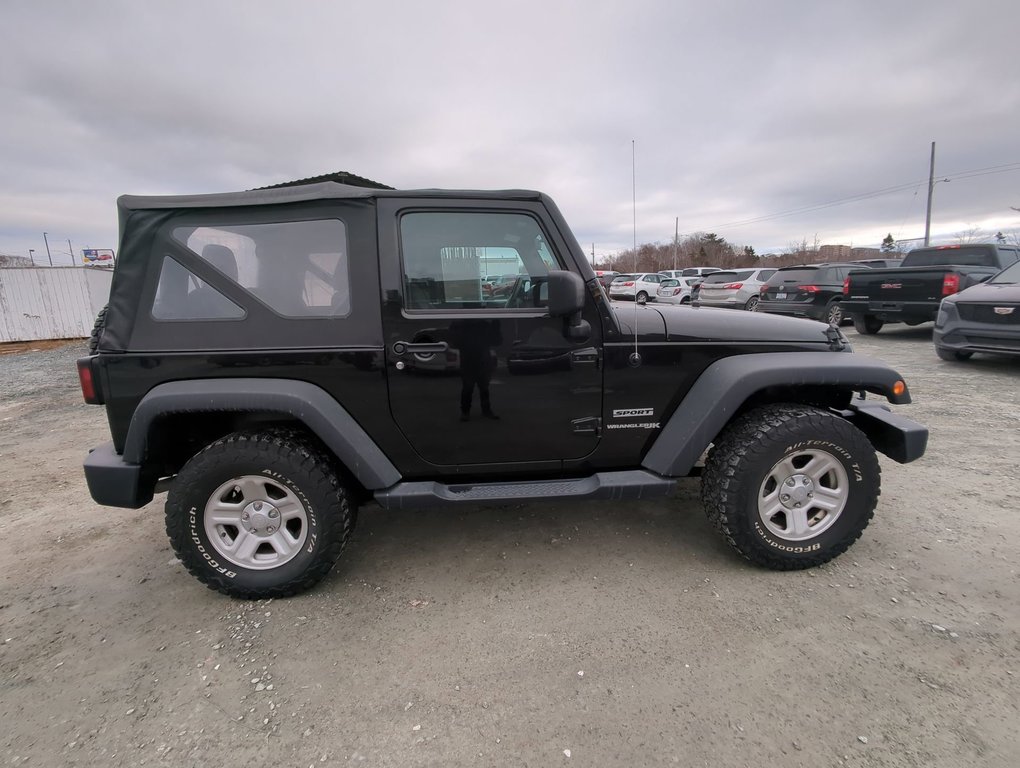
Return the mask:
MULTIPOLYGON (((810 474, 811 465, 805 469, 810 474)), ((821 408, 768 405, 737 418, 716 441, 702 477, 702 501, 709 520, 746 559, 773 570, 799 570, 828 562, 860 537, 874 514, 880 485, 874 449, 856 426, 821 408), (826 482, 845 487, 846 500, 831 519, 812 506, 816 501, 807 501, 806 515, 813 510, 822 515, 817 523, 820 532, 811 535, 808 527, 806 537, 792 541, 774 531, 776 520, 781 523, 785 518, 766 521, 760 502, 777 505, 783 480, 776 482, 776 469, 785 459, 793 459, 790 466, 796 467, 807 456, 832 460, 831 469, 812 485, 818 493, 816 501, 826 482), (767 502, 766 492, 773 482, 775 497, 767 502)))

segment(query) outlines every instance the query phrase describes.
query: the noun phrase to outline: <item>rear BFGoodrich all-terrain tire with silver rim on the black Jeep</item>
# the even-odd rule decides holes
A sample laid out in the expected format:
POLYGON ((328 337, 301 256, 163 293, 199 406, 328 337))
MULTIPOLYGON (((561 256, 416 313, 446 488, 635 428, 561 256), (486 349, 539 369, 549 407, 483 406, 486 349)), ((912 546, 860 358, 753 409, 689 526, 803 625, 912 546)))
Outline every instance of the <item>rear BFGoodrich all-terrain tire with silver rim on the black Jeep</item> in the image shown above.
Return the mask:
MULTIPOLYGON (((354 499, 328 457, 300 432, 288 430, 236 432, 207 446, 177 473, 166 499, 166 533, 181 562, 210 590, 243 599, 289 597, 313 586, 340 558, 356 518, 354 499), (235 482, 233 491, 224 491, 235 482), (249 493, 259 488, 263 491, 249 493), (263 504, 275 509, 275 504, 284 510, 276 512, 275 530, 280 535, 282 524, 289 532, 304 532, 286 540, 292 552, 278 566, 255 562, 266 557, 258 554, 264 548, 270 550, 270 560, 283 559, 270 543, 259 544, 248 559, 224 551, 225 545, 240 545, 242 536, 255 541, 255 535, 241 529, 240 520, 219 528, 222 543, 210 541, 206 525, 210 507, 230 505, 240 515, 242 509, 254 509, 256 502, 260 509, 263 504), (287 520, 286 515, 297 508, 300 519, 292 527, 295 519, 287 520), (298 539, 300 546, 291 545, 291 539, 298 539), (231 557, 238 560, 232 562, 231 557), (257 567, 242 565, 249 562, 257 567)), ((261 519, 267 522, 265 515, 261 519)), ((264 527, 257 532, 268 535, 264 527)))

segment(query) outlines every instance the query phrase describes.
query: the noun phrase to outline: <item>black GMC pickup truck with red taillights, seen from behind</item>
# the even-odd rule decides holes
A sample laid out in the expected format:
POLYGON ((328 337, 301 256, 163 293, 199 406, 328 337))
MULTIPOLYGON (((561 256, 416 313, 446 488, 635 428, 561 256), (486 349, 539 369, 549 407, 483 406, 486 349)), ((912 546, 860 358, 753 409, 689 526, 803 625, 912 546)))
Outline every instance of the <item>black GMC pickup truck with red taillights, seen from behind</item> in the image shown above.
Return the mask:
POLYGON ((858 334, 886 322, 934 320, 947 296, 981 283, 1020 259, 1017 246, 978 243, 917 248, 898 267, 851 272, 843 284, 843 311, 858 334))

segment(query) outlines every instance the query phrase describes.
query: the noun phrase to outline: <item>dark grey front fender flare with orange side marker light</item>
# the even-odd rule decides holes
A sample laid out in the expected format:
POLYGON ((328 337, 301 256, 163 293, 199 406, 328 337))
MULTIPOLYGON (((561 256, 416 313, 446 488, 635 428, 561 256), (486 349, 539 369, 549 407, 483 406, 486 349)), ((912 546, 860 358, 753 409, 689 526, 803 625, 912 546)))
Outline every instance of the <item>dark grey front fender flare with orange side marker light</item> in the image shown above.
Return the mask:
POLYGON ((910 402, 900 374, 871 357, 833 352, 733 355, 712 363, 698 377, 645 454, 642 467, 667 477, 690 474, 749 398, 769 387, 798 386, 864 390, 890 403, 910 402))

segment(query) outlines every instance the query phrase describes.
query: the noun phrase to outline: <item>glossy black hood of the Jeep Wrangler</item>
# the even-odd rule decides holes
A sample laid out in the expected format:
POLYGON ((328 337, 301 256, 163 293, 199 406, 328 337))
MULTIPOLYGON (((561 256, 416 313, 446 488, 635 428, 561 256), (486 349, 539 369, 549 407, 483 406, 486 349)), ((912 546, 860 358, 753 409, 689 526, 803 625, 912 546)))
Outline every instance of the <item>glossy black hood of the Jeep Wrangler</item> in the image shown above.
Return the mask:
POLYGON ((828 344, 823 322, 799 317, 682 304, 617 306, 616 317, 625 336, 667 342, 796 342, 828 344))

